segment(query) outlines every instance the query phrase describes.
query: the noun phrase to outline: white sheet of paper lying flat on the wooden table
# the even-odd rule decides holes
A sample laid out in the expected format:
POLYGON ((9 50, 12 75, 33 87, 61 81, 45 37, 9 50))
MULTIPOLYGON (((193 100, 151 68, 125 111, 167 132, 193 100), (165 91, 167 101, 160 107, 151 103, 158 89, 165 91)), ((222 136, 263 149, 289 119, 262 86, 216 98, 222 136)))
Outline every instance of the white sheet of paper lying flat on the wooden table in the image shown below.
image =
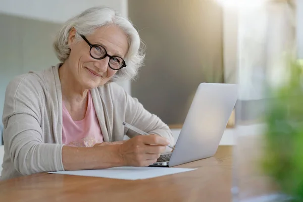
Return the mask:
POLYGON ((192 170, 195 169, 161 168, 161 167, 115 167, 115 168, 100 169, 100 170, 58 171, 58 172, 49 172, 49 173, 91 176, 91 177, 105 177, 105 178, 125 179, 125 180, 139 180, 139 179, 148 179, 148 178, 159 177, 164 175, 171 175, 175 173, 182 173, 192 170))

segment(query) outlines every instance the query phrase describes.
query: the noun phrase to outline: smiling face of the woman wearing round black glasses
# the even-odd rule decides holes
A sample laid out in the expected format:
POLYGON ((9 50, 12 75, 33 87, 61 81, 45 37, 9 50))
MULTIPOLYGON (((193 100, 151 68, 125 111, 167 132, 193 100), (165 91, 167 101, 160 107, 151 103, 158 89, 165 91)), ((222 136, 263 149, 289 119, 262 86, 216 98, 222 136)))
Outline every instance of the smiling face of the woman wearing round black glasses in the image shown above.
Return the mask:
MULTIPOLYGON (((117 72, 109 67, 109 57, 102 60, 90 56, 90 46, 84 39, 75 40, 76 30, 69 34, 70 56, 66 60, 69 72, 79 84, 86 89, 92 89, 107 83, 117 72)), ((98 44, 106 49, 110 56, 119 56, 124 59, 128 50, 128 40, 124 32, 117 26, 103 26, 93 34, 85 36, 91 44, 98 44)))

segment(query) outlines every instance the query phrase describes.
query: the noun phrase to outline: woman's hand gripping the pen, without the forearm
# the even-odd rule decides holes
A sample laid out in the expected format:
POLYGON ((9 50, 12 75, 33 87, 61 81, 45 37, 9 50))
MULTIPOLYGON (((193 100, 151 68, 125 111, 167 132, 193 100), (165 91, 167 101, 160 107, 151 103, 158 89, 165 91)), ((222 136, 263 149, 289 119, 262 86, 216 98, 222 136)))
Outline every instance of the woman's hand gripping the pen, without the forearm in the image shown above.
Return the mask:
POLYGON ((160 135, 138 135, 120 144, 118 155, 124 166, 149 166, 157 162, 168 144, 160 135))

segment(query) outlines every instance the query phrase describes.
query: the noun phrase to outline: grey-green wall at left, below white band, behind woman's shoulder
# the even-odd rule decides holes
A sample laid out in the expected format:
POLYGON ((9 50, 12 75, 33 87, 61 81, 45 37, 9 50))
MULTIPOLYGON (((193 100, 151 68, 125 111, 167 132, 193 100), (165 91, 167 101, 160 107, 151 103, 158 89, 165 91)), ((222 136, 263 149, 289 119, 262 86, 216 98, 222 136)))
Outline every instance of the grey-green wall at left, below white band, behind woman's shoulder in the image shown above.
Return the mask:
POLYGON ((16 75, 57 64, 52 42, 60 24, 0 14, 0 115, 5 90, 16 75))

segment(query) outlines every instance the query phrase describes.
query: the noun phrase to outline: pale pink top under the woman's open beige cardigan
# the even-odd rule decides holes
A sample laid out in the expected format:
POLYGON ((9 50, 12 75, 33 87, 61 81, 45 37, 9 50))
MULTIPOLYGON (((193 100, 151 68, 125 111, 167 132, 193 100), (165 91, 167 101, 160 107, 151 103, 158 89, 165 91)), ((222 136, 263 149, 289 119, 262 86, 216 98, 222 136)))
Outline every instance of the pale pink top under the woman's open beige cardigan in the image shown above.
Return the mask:
POLYGON ((67 146, 91 147, 103 142, 103 135, 92 103, 90 91, 83 120, 74 121, 62 102, 62 142, 67 146))

